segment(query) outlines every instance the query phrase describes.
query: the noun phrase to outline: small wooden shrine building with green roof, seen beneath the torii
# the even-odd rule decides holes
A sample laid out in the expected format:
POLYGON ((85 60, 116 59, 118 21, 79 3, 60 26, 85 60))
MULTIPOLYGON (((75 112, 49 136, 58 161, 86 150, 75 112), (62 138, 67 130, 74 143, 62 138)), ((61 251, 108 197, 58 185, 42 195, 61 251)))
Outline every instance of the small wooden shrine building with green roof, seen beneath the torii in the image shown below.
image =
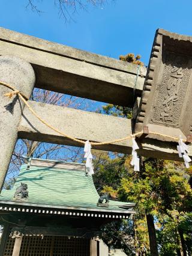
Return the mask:
POLYGON ((0 255, 109 255, 101 226, 130 218, 135 204, 101 201, 85 164, 29 159, 0 195, 0 255))

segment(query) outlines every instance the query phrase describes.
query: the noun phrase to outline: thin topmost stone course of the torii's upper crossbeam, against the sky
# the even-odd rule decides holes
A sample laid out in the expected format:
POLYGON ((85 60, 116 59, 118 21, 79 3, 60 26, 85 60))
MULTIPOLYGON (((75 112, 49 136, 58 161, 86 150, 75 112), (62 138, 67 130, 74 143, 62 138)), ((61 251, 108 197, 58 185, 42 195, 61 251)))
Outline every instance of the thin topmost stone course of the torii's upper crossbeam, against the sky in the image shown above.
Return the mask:
MULTIPOLYGON (((107 67, 110 69, 121 70, 130 72, 134 75, 137 74, 137 65, 128 64, 125 61, 109 58, 107 56, 98 55, 85 50, 76 49, 63 44, 53 43, 41 38, 32 37, 31 35, 22 34, 16 31, 0 27, 0 40, 9 41, 10 43, 19 44, 25 47, 50 52, 56 55, 65 56, 71 59, 92 63, 97 66, 107 67)), ((145 67, 140 67, 141 73, 145 75, 145 67)))

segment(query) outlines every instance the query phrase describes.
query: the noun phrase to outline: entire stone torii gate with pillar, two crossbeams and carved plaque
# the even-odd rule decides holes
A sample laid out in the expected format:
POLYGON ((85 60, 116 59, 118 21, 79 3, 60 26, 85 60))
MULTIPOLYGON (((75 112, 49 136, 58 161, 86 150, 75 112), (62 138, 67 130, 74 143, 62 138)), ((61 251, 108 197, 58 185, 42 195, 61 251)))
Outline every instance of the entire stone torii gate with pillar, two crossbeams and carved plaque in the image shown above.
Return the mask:
MULTIPOLYGON (((185 139, 192 132, 192 118, 188 115, 190 99, 187 98, 192 90, 191 41, 191 37, 158 29, 146 75, 145 67, 141 67, 138 74, 134 64, 0 28, 0 81, 13 85, 28 97, 37 87, 134 106, 136 126, 125 118, 29 100, 29 105, 47 123, 77 139, 113 141, 146 125, 154 132, 181 135, 185 139)), ((18 138, 82 146, 41 123, 17 96, 4 97, 9 92, 10 89, 0 86, 1 189, 18 138)), ((139 140, 139 147, 138 153, 142 156, 181 160, 172 139, 148 135, 139 140)), ((132 150, 130 140, 93 148, 121 153, 132 150)), ((191 146, 189 149, 191 156, 191 146)))

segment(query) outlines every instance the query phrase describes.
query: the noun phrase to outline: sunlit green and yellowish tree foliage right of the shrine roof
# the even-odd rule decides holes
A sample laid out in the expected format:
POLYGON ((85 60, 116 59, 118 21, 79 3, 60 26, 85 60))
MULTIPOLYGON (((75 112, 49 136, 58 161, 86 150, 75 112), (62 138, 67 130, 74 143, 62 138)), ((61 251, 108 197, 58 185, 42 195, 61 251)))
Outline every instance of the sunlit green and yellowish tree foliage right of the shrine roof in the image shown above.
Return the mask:
MULTIPOLYGON (((131 109, 112 104, 104 106, 103 112, 131 118, 131 109)), ((134 246, 137 255, 148 255, 146 214, 151 214, 155 218, 160 255, 178 255, 182 250, 182 236, 188 255, 191 254, 192 190, 188 178, 192 168, 186 170, 182 163, 142 157, 140 172, 134 172, 130 166, 130 156, 110 155, 101 151, 96 153, 95 166, 95 182, 99 192, 108 192, 115 200, 136 203, 133 230, 124 224, 127 236, 134 239, 134 245, 132 242, 128 245, 127 240, 127 246, 124 246, 125 233, 120 232, 120 224, 109 224, 103 237, 109 246, 121 245, 128 255, 134 252, 127 248, 134 246), (124 235, 115 235, 116 238, 113 236, 119 233, 124 235)))

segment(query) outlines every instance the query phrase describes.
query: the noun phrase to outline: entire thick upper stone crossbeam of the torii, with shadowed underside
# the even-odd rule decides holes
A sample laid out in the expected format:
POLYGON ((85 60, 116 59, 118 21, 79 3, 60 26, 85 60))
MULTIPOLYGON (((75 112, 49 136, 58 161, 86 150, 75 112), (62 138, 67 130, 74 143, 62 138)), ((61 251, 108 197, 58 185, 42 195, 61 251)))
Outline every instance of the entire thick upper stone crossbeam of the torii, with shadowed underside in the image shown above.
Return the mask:
POLYGON ((32 64, 38 88, 122 106, 143 90, 145 67, 136 83, 137 65, 0 28, 0 55, 10 53, 32 64))

